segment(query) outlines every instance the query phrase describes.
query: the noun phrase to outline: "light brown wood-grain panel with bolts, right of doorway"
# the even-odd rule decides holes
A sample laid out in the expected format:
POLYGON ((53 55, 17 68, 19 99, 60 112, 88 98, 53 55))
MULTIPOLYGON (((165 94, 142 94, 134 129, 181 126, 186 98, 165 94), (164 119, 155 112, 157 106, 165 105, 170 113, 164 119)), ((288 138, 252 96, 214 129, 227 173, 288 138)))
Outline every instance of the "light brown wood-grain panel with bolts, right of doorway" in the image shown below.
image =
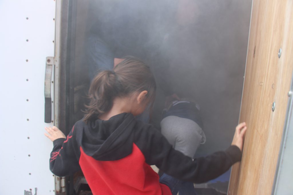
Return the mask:
POLYGON ((239 121, 248 129, 242 161, 232 167, 229 195, 271 194, 292 69, 293 1, 253 0, 239 121))

